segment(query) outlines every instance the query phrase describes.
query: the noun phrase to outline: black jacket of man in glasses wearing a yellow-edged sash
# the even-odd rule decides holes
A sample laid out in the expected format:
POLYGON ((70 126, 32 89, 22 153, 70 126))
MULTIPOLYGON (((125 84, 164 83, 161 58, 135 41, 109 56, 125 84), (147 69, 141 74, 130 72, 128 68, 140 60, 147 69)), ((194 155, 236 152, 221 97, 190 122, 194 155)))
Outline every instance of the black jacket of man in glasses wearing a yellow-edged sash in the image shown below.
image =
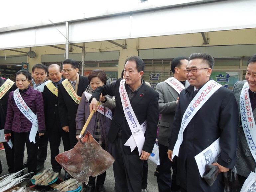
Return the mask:
MULTIPOLYGON (((78 89, 76 93, 79 97, 82 96, 88 84, 88 77, 79 75, 78 89)), ((69 126, 69 129, 75 129, 75 116, 78 104, 70 97, 62 83, 59 84, 58 91, 58 108, 61 127, 69 126)))

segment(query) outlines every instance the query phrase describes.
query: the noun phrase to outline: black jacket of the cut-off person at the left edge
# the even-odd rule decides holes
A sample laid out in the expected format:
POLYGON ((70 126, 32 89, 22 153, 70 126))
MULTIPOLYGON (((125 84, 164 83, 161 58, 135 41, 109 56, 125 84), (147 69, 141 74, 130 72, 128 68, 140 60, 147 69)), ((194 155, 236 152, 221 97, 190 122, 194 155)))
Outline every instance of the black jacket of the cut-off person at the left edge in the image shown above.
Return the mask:
MULTIPOLYGON (((2 86, 5 81, 6 81, 5 79, 0 77, 0 86, 2 86)), ((17 89, 17 86, 16 86, 16 83, 14 83, 14 85, 0 99, 0 129, 4 129, 9 95, 12 91, 16 89, 17 89)))

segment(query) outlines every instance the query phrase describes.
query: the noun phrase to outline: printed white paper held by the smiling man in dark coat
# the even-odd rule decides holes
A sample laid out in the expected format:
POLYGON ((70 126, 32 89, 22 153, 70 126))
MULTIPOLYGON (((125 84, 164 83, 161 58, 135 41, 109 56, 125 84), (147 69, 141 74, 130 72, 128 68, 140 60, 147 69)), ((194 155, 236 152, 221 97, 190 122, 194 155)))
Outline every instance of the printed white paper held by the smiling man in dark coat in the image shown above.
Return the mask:
POLYGON ((205 172, 205 165, 212 164, 221 152, 219 145, 219 138, 213 142, 210 146, 204 149, 202 152, 195 156, 195 161, 198 166, 199 173, 203 177, 205 172))

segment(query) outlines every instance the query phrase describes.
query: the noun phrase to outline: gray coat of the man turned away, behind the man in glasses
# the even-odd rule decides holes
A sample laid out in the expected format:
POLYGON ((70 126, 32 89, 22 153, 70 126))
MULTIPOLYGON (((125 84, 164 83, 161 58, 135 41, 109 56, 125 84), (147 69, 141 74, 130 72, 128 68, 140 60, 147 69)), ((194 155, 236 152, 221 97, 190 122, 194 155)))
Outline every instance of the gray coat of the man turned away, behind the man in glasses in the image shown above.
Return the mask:
MULTIPOLYGON (((185 87, 190 84, 186 80, 185 87)), ((158 109, 162 114, 158 132, 158 142, 169 146, 168 140, 171 138, 174 115, 176 112, 176 100, 179 97, 177 91, 166 82, 157 84, 156 91, 159 93, 158 109)))

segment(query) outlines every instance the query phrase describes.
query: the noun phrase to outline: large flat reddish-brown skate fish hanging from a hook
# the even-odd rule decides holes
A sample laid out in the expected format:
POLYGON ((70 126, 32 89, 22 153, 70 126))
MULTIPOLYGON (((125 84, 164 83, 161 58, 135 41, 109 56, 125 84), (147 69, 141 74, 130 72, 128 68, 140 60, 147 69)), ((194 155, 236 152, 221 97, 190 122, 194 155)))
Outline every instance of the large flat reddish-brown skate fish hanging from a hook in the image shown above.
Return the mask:
POLYGON ((87 131, 74 148, 65 151, 55 157, 63 168, 79 182, 88 183, 89 176, 97 176, 104 173, 115 159, 95 141, 87 131))

